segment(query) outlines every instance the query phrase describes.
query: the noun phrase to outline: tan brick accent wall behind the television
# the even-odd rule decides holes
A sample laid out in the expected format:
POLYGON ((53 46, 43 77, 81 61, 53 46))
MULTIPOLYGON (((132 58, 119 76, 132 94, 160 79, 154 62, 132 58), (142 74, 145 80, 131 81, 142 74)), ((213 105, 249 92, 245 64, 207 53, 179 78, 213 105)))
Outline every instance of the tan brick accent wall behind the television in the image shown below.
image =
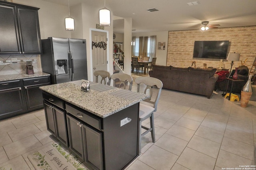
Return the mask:
MULTIPOLYGON (((256 26, 217 28, 205 32, 200 31, 199 28, 197 30, 169 31, 166 65, 189 67, 193 61, 196 61, 196 67, 200 68, 203 68, 203 64, 206 63, 207 67, 230 69, 231 62, 227 60, 221 63, 216 59, 193 59, 194 41, 220 40, 229 41, 228 53, 240 53, 240 60, 243 62, 248 58, 245 65, 250 70, 256 57, 256 26)), ((236 61, 232 69, 240 65, 241 62, 236 61)))

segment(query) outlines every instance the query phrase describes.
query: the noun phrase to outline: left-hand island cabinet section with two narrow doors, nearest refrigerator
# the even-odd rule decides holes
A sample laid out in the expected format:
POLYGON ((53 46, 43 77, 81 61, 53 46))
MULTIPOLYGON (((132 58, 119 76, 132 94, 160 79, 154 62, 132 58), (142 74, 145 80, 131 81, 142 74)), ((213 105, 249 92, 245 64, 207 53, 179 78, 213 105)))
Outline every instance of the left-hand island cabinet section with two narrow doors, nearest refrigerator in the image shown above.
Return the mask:
POLYGON ((47 130, 68 147, 66 112, 63 108, 63 101, 50 94, 43 93, 43 96, 47 130))

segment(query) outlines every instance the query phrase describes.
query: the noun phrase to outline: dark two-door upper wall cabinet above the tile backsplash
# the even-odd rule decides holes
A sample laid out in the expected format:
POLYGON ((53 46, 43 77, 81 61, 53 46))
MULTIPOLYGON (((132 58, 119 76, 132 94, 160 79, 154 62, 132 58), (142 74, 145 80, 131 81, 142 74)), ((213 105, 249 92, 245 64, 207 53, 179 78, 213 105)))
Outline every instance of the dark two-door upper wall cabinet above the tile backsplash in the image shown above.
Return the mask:
POLYGON ((38 10, 0 1, 0 55, 41 53, 38 10))

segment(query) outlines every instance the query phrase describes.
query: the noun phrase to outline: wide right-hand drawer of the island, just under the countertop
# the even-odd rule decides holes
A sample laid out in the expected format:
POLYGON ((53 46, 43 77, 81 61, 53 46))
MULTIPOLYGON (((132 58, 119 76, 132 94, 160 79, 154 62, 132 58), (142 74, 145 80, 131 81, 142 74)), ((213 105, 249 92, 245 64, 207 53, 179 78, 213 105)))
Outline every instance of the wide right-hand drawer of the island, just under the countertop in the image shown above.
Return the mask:
POLYGON ((101 119, 90 115, 92 113, 89 113, 85 110, 82 110, 78 107, 74 108, 76 106, 72 106, 71 104, 66 104, 66 111, 72 115, 74 115, 75 117, 77 117, 78 119, 80 119, 81 121, 84 121, 85 123, 87 123, 88 125, 91 125, 92 127, 101 130, 101 119))

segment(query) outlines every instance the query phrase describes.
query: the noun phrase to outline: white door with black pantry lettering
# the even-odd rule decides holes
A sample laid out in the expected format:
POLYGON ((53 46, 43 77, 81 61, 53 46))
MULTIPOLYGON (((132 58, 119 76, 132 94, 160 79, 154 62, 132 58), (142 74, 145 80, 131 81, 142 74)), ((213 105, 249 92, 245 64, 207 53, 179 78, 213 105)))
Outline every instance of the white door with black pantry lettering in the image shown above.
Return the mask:
MULTIPOLYGON (((93 73, 96 70, 108 71, 107 57, 107 33, 101 31, 92 31, 92 68, 93 73)), ((93 75, 93 82, 95 76, 93 75)))

